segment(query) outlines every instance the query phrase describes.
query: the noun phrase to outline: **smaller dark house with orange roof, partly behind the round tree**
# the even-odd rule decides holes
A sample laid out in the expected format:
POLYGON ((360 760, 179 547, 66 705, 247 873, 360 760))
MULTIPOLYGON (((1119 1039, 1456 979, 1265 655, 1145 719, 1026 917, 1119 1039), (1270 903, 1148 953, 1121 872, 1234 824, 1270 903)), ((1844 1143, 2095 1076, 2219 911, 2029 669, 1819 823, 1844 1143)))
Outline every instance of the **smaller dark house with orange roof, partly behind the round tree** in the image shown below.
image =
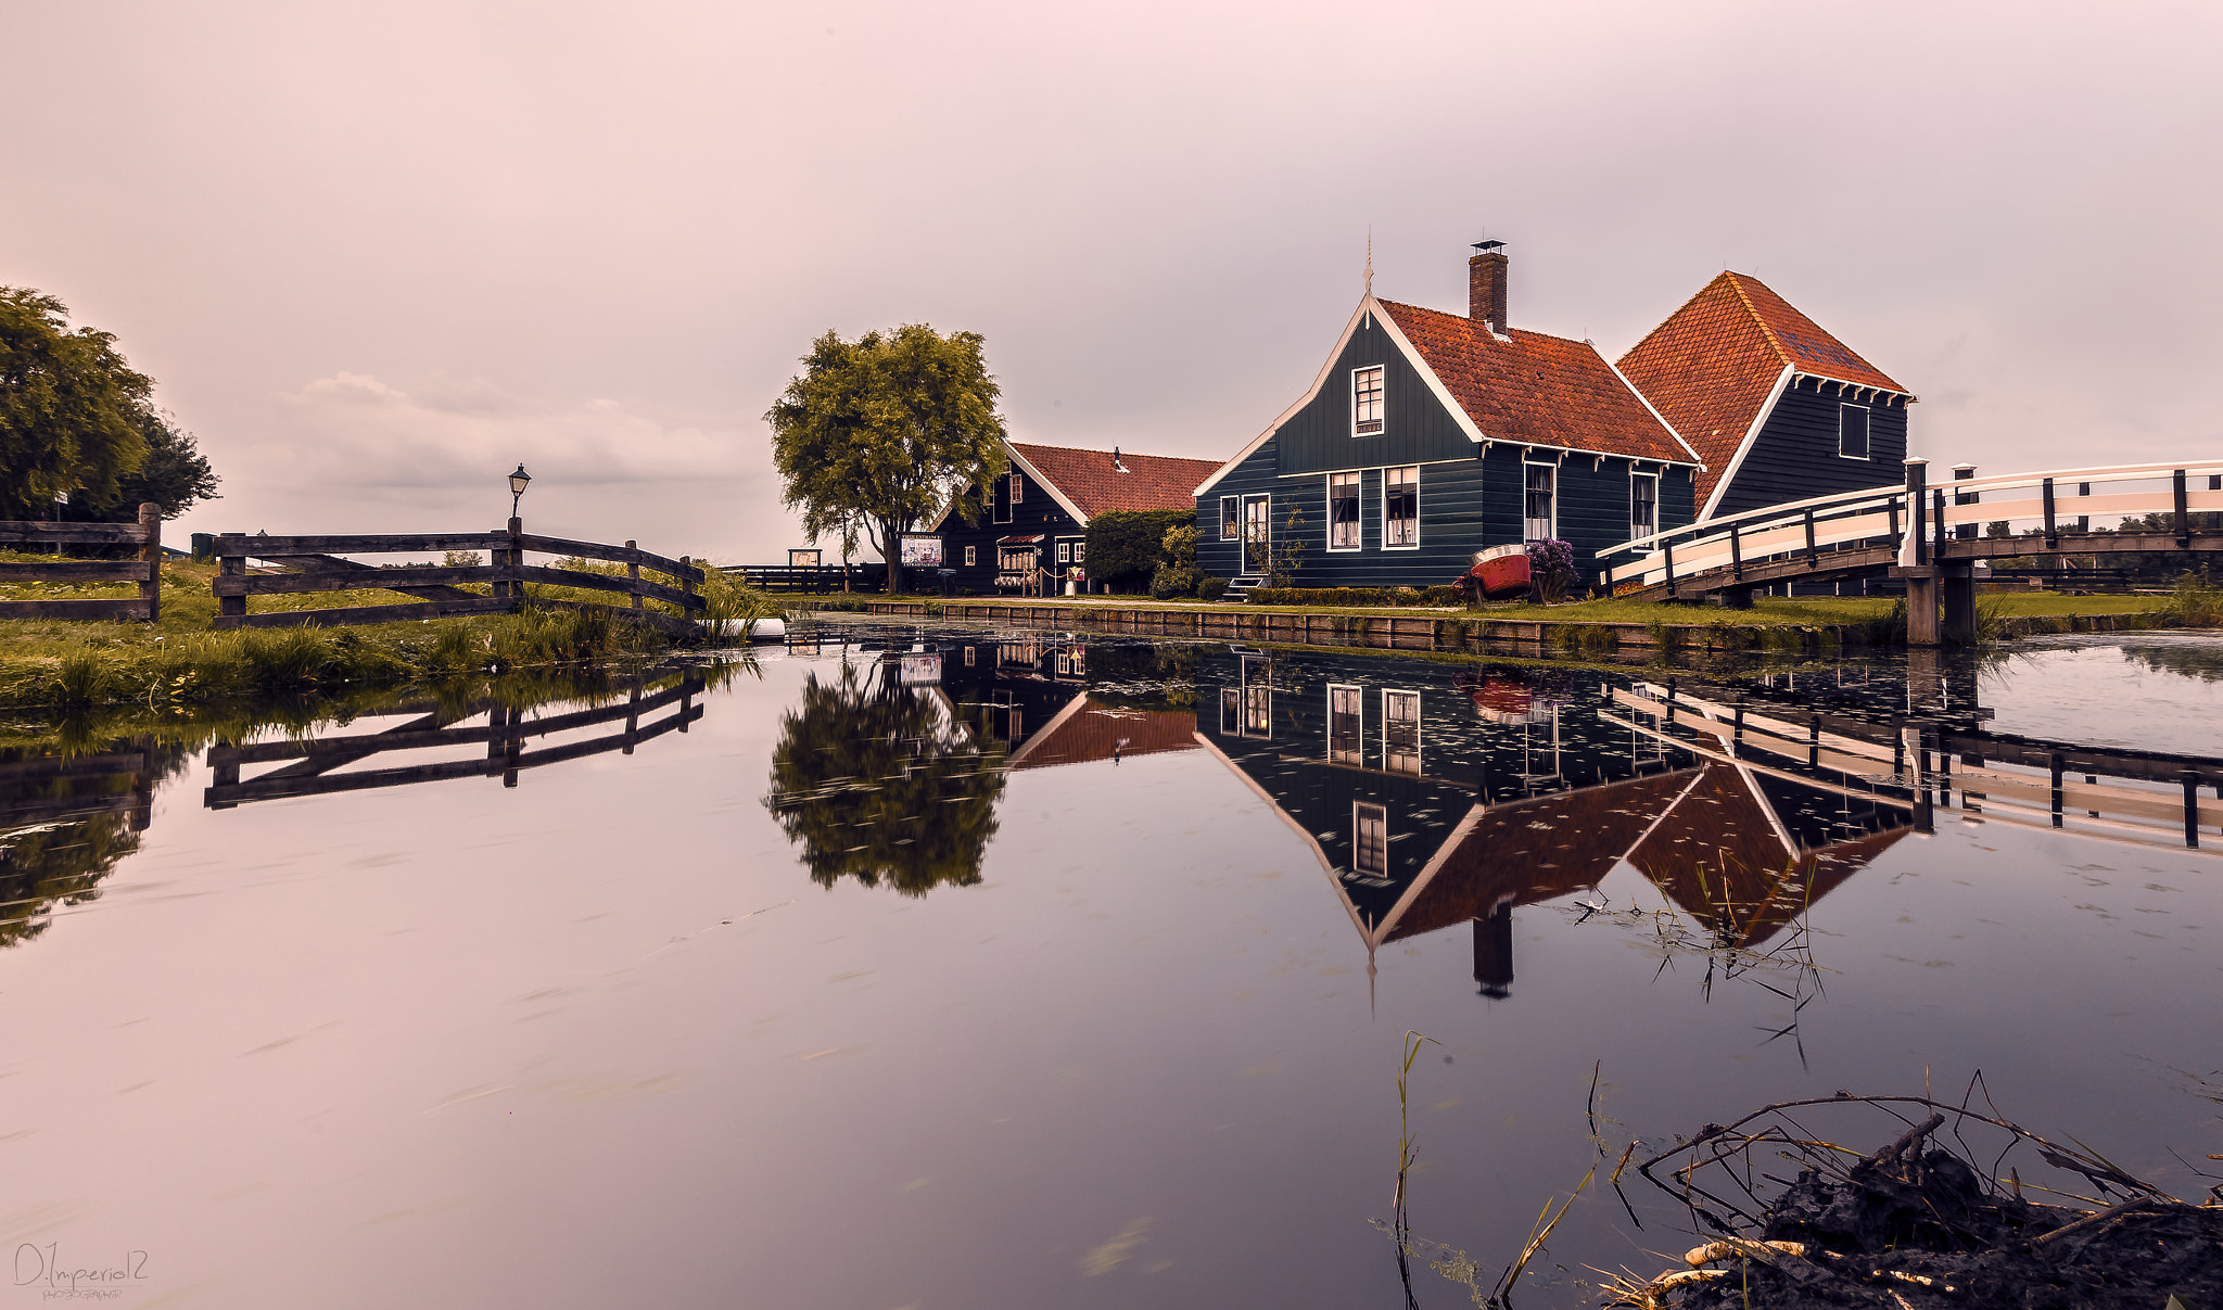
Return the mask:
POLYGON ((1212 460, 1138 456, 1116 449, 1069 449, 1009 443, 1011 472, 980 494, 965 487, 958 500, 978 505, 965 523, 954 500, 934 520, 943 538, 943 567, 965 592, 1016 592, 1034 569, 1060 578, 1085 567, 1089 518, 1107 509, 1187 509, 1192 489, 1218 467, 1212 460))

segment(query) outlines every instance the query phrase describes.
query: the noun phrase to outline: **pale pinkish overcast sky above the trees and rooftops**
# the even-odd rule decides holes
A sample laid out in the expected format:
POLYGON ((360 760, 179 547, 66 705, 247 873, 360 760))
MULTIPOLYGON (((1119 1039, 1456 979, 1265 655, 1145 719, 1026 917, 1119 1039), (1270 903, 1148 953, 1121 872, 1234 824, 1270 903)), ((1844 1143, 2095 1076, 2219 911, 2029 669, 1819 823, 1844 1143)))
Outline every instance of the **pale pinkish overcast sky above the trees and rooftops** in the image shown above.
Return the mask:
POLYGON ((1225 458, 1360 294, 1625 351, 1754 274, 1987 469, 2223 447, 2219 4, 0 0, 0 285, 225 476, 171 532, 782 558, 827 329, 1225 458))

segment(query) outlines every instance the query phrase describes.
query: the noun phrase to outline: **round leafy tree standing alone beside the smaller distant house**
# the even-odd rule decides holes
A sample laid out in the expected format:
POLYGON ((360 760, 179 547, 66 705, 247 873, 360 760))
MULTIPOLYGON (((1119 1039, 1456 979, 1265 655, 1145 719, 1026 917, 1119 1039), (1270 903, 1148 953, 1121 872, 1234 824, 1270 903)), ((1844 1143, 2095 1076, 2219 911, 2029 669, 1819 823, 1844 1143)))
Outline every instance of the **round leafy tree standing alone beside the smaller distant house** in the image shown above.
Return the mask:
POLYGON ((889 592, 903 589, 903 534, 951 500, 978 523, 978 503, 958 492, 987 487, 1009 463, 1003 389, 980 345, 976 331, 943 336, 923 322, 854 343, 827 331, 765 414, 803 532, 834 534, 845 554, 869 540, 889 592))

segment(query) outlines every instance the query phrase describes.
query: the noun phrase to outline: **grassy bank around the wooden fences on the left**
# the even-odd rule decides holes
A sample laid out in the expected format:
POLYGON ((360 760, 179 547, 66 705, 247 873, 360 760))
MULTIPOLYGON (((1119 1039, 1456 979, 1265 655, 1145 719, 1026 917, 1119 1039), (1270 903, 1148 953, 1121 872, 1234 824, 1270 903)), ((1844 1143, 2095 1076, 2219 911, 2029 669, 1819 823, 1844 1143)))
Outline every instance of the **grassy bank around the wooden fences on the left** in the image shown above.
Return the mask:
MULTIPOLYGON (((602 569, 582 560, 578 567, 602 569)), ((82 712, 133 705, 158 714, 189 714, 209 703, 654 661, 671 649, 660 632, 611 614, 607 592, 540 585, 527 587, 527 601, 576 601, 587 607, 527 605, 518 614, 473 618, 209 632, 216 618, 216 596, 209 589, 213 576, 216 565, 165 565, 160 623, 0 623, 0 707, 82 712)), ((24 601, 129 594, 136 594, 131 585, 0 585, 0 598, 24 601)), ((702 596, 709 601, 714 638, 738 638, 745 623, 780 614, 776 601, 716 569, 709 572, 702 596)), ((258 596, 256 612, 411 601, 413 596, 382 587, 362 587, 258 596)))

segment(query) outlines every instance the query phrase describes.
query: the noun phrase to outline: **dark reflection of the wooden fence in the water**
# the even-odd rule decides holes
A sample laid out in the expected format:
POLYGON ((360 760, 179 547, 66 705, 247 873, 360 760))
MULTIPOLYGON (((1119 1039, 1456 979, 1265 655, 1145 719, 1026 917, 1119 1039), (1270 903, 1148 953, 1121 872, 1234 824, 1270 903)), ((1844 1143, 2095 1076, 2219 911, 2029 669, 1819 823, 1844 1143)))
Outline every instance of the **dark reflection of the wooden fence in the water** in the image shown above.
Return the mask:
POLYGON ((611 750, 634 754, 634 747, 645 741, 654 741, 674 730, 687 732, 689 723, 702 718, 702 707, 694 703, 700 692, 702 678, 689 676, 671 687, 665 687, 662 692, 642 696, 640 687, 634 687, 625 701, 598 705, 594 709, 549 714, 545 718, 525 718, 522 709, 498 701, 476 701, 458 712, 409 705, 398 712, 429 712, 398 727, 389 727, 387 732, 320 736, 307 741, 265 741, 256 745, 211 745, 209 765, 216 772, 216 783, 207 790, 205 803, 209 810, 231 810, 233 805, 247 801, 407 787, 411 783, 438 783, 445 778, 500 776, 505 787, 516 787, 520 770, 587 758, 611 750), (671 705, 678 707, 674 714, 656 723, 642 723, 649 714, 671 705), (487 716, 485 725, 451 727, 451 723, 478 714, 487 716), (576 732, 580 727, 598 727, 602 723, 620 721, 625 727, 605 736, 525 750, 525 743, 536 736, 576 732), (387 752, 456 745, 485 745, 487 754, 485 758, 338 772, 347 765, 356 765, 387 752), (282 767, 240 781, 240 767, 271 763, 282 767))

